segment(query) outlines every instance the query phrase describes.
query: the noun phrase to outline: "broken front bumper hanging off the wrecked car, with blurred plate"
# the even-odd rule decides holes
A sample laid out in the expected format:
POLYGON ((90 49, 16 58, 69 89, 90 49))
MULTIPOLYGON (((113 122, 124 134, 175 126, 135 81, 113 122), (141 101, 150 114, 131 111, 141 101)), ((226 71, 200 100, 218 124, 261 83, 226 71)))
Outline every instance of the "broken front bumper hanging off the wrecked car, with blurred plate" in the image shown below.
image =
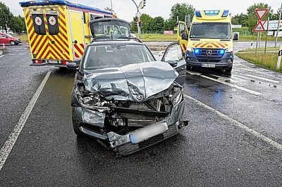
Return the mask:
MULTIPOLYGON (((181 127, 187 126, 188 122, 180 122, 184 112, 184 100, 174 106, 171 115, 165 120, 155 122, 154 124, 136 129, 128 134, 120 135, 113 131, 107 134, 99 134, 85 128, 79 127, 80 131, 94 138, 108 140, 110 147, 116 150, 120 155, 129 155, 148 146, 152 146, 159 141, 178 134, 181 127)), ((75 108, 77 119, 83 123, 92 124, 96 127, 104 127, 105 115, 103 112, 95 112, 85 108, 75 108)))

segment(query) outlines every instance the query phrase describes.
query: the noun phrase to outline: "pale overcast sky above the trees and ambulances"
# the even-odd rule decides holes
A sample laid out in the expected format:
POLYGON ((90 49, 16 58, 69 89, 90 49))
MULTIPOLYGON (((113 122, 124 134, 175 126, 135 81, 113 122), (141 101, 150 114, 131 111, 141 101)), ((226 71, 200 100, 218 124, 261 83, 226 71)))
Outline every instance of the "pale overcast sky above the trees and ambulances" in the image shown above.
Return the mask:
MULTIPOLYGON (((10 8, 14 15, 23 15, 22 9, 19 6, 18 0, 0 0, 4 2, 6 6, 10 8)), ((135 0, 137 4, 141 0, 135 0)), ((111 6, 111 0, 82 0, 82 1, 73 1, 79 4, 85 4, 88 6, 94 6, 97 8, 104 9, 105 7, 111 6)), ((118 18, 131 21, 136 13, 136 7, 134 6, 132 0, 112 0, 114 11, 116 11, 118 18)), ((197 10, 207 10, 207 9, 227 9, 230 10, 232 15, 238 13, 246 13, 247 8, 252 4, 264 2, 269 4, 271 8, 274 9, 274 13, 281 6, 281 0, 147 0, 147 4, 142 13, 148 13, 152 17, 161 16, 165 19, 169 18, 169 13, 171 12, 171 6, 176 3, 188 3, 194 6, 197 10)))

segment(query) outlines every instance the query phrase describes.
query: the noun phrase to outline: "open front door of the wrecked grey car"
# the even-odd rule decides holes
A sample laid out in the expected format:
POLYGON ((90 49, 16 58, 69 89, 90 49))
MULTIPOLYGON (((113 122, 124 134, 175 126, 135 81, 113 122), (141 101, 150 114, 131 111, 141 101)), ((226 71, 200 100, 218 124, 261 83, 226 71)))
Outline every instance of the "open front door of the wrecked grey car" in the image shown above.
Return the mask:
POLYGON ((176 82, 183 86, 186 76, 186 62, 183 58, 182 49, 179 42, 173 42, 168 45, 161 61, 171 64, 171 66, 176 69, 178 72, 176 82))

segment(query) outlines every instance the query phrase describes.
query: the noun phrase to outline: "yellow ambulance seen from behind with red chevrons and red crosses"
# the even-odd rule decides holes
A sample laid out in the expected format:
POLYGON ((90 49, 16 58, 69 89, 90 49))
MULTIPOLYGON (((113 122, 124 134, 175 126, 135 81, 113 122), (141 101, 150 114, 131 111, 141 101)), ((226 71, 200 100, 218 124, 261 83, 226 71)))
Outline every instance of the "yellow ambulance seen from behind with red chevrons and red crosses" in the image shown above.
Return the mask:
POLYGON ((110 11, 69 1, 25 1, 23 7, 32 65, 56 65, 82 57, 91 41, 89 22, 113 18, 110 11))

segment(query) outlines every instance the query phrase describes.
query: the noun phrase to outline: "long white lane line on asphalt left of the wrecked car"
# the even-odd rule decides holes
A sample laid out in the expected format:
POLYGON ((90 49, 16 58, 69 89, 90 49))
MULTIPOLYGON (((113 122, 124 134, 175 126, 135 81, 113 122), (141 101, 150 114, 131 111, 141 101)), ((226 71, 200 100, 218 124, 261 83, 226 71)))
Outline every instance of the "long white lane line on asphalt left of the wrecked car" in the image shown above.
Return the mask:
POLYGON ((8 136, 8 139, 4 143, 4 146, 1 148, 0 150, 0 172, 6 162, 8 155, 11 153, 11 150, 13 146, 15 145, 18 139, 18 136, 20 135, 20 132, 22 131, 23 127, 25 126, 25 122, 27 121, 28 117, 30 116, 30 113, 32 112, 32 108, 35 106, 35 103, 37 99, 39 98, 40 93, 42 92, 50 74, 51 74, 51 70, 49 70, 47 74, 45 75, 37 91, 35 92, 35 95, 30 100, 30 103, 28 103, 27 108, 25 108, 25 111, 23 112, 23 115, 21 115, 20 120, 18 120, 18 123, 16 124, 15 128, 11 132, 10 136, 8 136))

